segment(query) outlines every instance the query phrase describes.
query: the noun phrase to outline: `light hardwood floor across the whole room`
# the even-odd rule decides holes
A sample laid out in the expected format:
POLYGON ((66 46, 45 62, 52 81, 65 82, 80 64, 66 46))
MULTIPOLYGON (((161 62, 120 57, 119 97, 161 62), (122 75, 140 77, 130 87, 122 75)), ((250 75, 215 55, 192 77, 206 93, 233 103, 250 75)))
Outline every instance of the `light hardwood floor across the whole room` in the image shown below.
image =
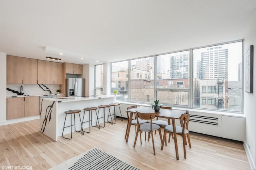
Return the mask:
POLYGON ((58 137, 57 142, 39 132, 39 120, 0 126, 0 166, 32 166, 34 170, 45 170, 96 147, 141 170, 250 169, 240 142, 191 132, 192 148, 186 147, 187 158, 184 159, 182 138, 178 135, 180 160, 176 160, 174 141, 171 139, 167 147, 160 150, 158 133, 154 135, 156 156, 151 139, 144 141, 144 134, 142 145, 138 138, 133 148, 133 126, 126 143, 126 123, 126 120, 117 120, 114 125, 106 123, 100 130, 92 127, 89 134, 72 133, 70 141, 58 137))

